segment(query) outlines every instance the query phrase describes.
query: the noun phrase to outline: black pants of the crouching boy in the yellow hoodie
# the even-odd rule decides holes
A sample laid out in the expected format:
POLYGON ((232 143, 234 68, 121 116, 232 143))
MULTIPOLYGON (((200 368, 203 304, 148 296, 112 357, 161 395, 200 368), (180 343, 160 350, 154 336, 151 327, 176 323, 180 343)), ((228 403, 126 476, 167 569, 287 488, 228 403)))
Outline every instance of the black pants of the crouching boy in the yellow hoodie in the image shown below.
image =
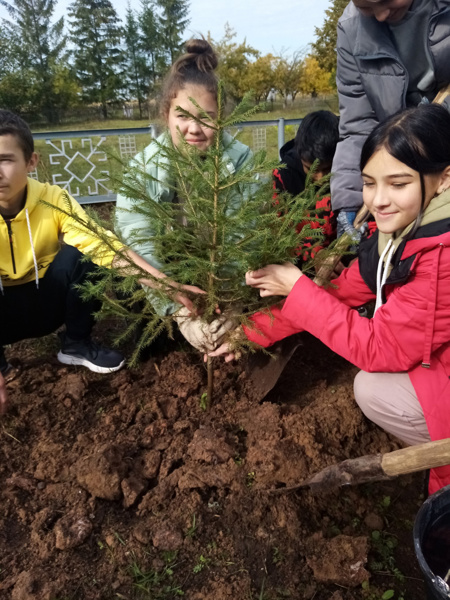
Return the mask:
POLYGON ((67 335, 82 340, 91 334, 97 300, 82 300, 76 286, 83 283, 97 267, 81 260, 83 255, 73 246, 63 246, 39 288, 31 281, 5 286, 0 293, 0 347, 27 338, 42 337, 65 323, 67 335))

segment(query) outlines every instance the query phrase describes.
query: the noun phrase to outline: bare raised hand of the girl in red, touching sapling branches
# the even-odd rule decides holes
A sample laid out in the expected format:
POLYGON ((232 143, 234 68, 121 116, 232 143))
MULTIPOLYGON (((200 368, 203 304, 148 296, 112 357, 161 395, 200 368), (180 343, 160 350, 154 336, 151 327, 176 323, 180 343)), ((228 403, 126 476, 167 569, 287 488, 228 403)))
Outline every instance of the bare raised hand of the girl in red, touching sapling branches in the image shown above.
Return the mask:
POLYGON ((303 273, 292 263, 268 265, 245 275, 247 285, 260 290, 261 298, 266 296, 287 296, 303 273))

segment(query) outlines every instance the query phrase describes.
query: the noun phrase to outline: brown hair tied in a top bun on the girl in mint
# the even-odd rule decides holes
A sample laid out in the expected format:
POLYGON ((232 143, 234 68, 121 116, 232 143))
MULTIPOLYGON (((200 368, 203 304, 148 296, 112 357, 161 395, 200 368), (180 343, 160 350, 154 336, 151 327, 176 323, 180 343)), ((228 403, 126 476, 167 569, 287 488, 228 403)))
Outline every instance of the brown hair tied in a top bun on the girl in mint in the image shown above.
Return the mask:
POLYGON ((164 80, 161 114, 167 119, 170 104, 186 85, 204 87, 217 98, 218 80, 215 69, 219 64, 211 44, 204 39, 186 42, 186 54, 177 59, 164 80))

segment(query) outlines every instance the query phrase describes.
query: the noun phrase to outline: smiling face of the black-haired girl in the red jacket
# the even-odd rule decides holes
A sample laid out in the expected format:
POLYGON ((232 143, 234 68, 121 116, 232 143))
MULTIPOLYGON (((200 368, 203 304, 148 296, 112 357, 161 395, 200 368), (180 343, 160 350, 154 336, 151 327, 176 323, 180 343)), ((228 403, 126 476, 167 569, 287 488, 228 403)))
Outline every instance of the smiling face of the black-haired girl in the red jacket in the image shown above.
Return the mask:
MULTIPOLYGON (((448 171, 425 175, 425 205, 449 187, 448 171)), ((382 233, 400 233, 419 215, 422 202, 420 175, 387 150, 375 152, 364 167, 363 200, 382 233)))

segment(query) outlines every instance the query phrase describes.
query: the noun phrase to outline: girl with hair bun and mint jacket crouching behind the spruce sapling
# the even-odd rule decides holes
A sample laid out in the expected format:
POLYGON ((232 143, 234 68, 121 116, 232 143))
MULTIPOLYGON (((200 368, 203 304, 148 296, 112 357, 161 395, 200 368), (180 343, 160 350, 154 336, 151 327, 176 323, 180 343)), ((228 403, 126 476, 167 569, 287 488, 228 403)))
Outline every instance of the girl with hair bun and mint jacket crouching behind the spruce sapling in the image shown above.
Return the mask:
MULTIPOLYGON (((172 65, 162 91, 161 115, 167 129, 135 157, 135 161, 145 165, 147 194, 158 203, 179 202, 171 186, 170 164, 161 148, 173 145, 180 147, 187 143, 205 152, 214 141, 215 131, 208 126, 206 116, 211 120, 218 115, 218 79, 215 69, 218 65, 216 53, 204 39, 192 39, 186 43, 186 53, 172 65), (192 102, 190 99, 194 100, 192 102), (197 106, 198 105, 198 106, 197 106), (180 110, 181 109, 181 110, 180 110), (191 118, 185 114, 187 111, 191 118)), ((250 149, 225 133, 224 168, 235 173, 250 159, 250 149)), ((237 204, 243 199, 238 199, 237 204)), ((182 201, 182 200, 181 200, 182 201)), ((164 277, 164 264, 158 261, 153 253, 151 229, 139 204, 123 194, 117 197, 116 230, 126 243, 153 267, 160 270, 164 277), (140 241, 136 243, 136 234, 140 241), (141 240, 147 240, 143 242, 141 240)), ((195 283, 195 282, 193 282, 195 283)), ((193 293, 202 293, 198 287, 183 286, 193 293)), ((217 318, 209 325, 193 313, 192 302, 187 297, 178 295, 181 304, 161 301, 156 305, 158 314, 165 316, 175 314, 176 321, 184 337, 196 348, 206 351, 217 347, 221 338, 234 326, 234 322, 225 318, 217 318)), ((152 302, 151 296, 149 300, 152 302)))

